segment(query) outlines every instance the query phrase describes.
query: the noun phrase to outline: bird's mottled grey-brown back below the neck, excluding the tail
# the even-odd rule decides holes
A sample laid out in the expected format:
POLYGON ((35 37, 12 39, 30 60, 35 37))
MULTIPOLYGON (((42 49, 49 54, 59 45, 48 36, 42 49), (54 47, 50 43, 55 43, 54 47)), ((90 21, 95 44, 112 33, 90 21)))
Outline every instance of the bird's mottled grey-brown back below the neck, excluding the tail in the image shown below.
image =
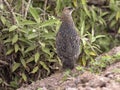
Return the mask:
POLYGON ((56 37, 57 51, 73 57, 79 52, 80 39, 75 28, 62 23, 56 37))

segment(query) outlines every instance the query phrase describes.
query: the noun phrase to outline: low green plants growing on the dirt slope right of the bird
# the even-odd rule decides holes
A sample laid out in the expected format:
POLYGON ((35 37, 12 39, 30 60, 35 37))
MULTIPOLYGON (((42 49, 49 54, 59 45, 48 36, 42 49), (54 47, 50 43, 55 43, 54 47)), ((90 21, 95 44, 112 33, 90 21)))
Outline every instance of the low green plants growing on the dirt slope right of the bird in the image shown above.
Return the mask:
POLYGON ((95 61, 91 61, 89 70, 91 72, 100 73, 107 66, 117 61, 120 61, 120 53, 116 53, 112 56, 105 54, 103 56, 99 56, 99 58, 96 58, 95 61))

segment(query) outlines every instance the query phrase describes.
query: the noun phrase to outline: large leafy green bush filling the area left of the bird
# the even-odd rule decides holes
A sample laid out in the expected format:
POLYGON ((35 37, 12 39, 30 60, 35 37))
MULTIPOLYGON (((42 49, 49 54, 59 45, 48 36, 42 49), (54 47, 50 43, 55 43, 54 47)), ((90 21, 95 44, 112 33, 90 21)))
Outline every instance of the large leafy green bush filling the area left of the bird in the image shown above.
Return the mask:
POLYGON ((54 41, 55 26, 59 26, 60 21, 53 16, 47 16, 48 20, 43 21, 33 6, 30 6, 28 14, 31 19, 25 19, 16 13, 16 24, 11 23, 10 19, 7 20, 7 14, 3 13, 1 16, 1 21, 6 26, 1 30, 1 43, 4 45, 6 56, 6 59, 2 60, 11 63, 8 66, 3 65, 7 71, 1 68, 1 72, 9 72, 11 76, 1 76, 5 77, 2 80, 13 88, 22 82, 50 75, 51 70, 56 68, 52 65, 58 63, 54 41), (11 80, 7 82, 8 79, 11 80))

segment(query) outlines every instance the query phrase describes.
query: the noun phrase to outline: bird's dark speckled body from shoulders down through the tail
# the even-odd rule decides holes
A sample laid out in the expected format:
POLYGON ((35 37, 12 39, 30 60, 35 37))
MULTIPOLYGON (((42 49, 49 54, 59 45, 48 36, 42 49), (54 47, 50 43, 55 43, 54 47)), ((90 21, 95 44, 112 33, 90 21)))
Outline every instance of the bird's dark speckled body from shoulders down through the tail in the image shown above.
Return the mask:
MULTIPOLYGON (((65 68, 74 67, 80 54, 80 38, 75 28, 62 23, 56 36, 57 54, 62 62, 69 63, 65 68)), ((63 65, 64 66, 64 65, 63 65)))

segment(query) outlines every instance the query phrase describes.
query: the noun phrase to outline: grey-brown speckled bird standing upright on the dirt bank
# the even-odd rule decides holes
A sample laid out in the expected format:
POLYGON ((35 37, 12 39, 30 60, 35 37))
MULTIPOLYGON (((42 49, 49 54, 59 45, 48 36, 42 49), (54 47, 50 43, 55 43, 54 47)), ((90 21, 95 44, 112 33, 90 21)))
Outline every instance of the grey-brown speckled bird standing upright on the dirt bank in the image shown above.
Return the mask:
POLYGON ((56 34, 56 51, 63 69, 73 69, 80 55, 80 37, 72 18, 72 7, 65 7, 56 34))

